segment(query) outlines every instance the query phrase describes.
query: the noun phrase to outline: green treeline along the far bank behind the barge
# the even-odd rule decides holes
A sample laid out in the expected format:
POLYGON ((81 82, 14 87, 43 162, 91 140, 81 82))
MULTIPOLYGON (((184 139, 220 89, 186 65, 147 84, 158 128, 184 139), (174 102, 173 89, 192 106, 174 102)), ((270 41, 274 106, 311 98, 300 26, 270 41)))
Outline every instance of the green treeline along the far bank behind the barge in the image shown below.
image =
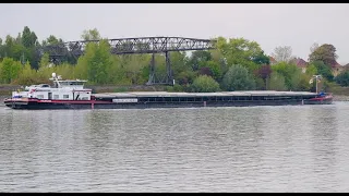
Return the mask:
MULTIPOLYGON (((85 30, 85 40, 101 39, 97 29, 85 30)), ((37 48, 63 42, 49 36, 41 42, 34 32, 24 27, 16 38, 7 36, 0 40, 0 83, 31 85, 49 83, 52 72, 63 78, 88 79, 93 85, 144 85, 149 77, 151 54, 113 56, 106 39, 98 44, 89 42, 85 53, 75 62, 68 59, 53 65, 45 53, 40 57, 37 48), (39 58, 40 57, 40 58, 39 58)), ((336 49, 332 45, 314 46, 309 56, 310 65, 303 72, 298 68, 290 47, 277 47, 270 62, 261 46, 244 38, 217 38, 217 49, 185 52, 171 52, 170 61, 174 91, 218 91, 218 90, 314 90, 310 79, 321 74, 323 87, 337 82, 349 85, 349 74, 344 72, 336 78, 332 65, 336 61, 336 49)), ((155 56, 157 78, 166 76, 166 60, 155 56)))

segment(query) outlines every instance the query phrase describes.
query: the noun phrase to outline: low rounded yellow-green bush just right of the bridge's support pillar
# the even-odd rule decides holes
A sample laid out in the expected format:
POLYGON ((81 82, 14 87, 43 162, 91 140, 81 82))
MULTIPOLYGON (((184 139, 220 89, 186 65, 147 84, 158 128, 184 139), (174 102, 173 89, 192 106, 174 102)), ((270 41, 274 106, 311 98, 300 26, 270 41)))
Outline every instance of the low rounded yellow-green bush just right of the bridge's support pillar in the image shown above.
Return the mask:
POLYGON ((200 75, 192 84, 192 90, 198 93, 212 93, 219 90, 219 84, 207 75, 200 75))

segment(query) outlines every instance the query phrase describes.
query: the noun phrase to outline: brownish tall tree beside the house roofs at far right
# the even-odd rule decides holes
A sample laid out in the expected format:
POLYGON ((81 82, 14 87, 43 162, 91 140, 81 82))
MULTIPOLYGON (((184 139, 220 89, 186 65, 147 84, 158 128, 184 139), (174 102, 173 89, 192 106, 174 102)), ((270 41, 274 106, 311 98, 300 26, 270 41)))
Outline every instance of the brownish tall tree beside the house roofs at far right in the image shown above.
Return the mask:
POLYGON ((333 45, 322 45, 316 48, 311 54, 309 54, 309 61, 323 61, 328 66, 334 66, 337 64, 336 59, 338 56, 336 54, 336 48, 333 45))

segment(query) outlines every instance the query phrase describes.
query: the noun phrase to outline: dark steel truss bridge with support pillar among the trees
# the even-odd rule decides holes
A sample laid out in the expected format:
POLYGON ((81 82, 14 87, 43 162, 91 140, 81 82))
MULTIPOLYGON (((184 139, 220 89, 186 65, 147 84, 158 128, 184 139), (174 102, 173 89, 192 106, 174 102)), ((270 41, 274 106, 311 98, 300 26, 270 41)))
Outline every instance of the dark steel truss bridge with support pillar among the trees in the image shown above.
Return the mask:
MULTIPOLYGON (((41 53, 47 52, 51 62, 60 63, 65 57, 77 59, 85 51, 88 42, 99 42, 100 40, 79 40, 68 41, 60 45, 50 45, 43 48, 41 53)), ((215 40, 196 39, 184 37, 139 37, 108 39, 112 54, 152 53, 151 73, 147 85, 152 84, 173 84, 170 52, 189 50, 215 49, 215 40), (166 78, 155 76, 155 53, 165 53, 166 78)))

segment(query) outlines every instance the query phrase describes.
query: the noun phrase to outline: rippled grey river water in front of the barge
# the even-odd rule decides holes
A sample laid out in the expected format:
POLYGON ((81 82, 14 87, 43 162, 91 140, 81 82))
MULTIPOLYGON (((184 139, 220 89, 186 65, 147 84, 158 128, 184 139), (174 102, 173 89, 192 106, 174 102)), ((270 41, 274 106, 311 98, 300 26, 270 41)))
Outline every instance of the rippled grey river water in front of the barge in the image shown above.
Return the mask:
POLYGON ((349 103, 0 107, 0 192, 349 192, 349 103))

